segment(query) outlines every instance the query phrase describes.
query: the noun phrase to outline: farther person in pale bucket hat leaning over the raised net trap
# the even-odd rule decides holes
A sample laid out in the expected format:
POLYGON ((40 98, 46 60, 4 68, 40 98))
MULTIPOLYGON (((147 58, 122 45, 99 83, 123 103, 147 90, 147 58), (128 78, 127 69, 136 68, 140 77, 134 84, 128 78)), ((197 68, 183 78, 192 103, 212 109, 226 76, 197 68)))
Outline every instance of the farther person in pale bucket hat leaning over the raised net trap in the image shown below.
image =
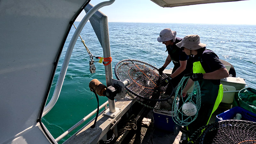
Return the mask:
POLYGON ((182 77, 185 74, 188 74, 191 72, 192 69, 192 63, 189 60, 189 56, 186 55, 185 52, 182 52, 182 50, 176 46, 177 43, 179 43, 182 40, 180 37, 176 37, 176 31, 172 31, 170 28, 163 29, 159 37, 157 38, 158 42, 162 42, 166 45, 166 51, 168 51, 168 56, 164 62, 164 65, 158 69, 159 73, 161 74, 164 69, 170 64, 172 61, 174 64, 174 67, 172 69, 172 74, 166 79, 164 79, 163 82, 168 83, 170 80, 172 81, 173 87, 176 87, 182 77))

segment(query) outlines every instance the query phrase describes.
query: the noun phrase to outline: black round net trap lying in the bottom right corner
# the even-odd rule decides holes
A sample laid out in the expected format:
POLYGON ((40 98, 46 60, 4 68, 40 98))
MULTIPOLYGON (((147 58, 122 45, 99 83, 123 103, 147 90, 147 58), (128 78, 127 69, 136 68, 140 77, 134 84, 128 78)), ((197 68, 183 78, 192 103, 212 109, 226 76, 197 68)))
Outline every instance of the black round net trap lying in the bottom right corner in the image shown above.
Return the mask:
POLYGON ((256 122, 223 120, 209 124, 203 133, 197 130, 191 139, 196 144, 256 144, 256 122))

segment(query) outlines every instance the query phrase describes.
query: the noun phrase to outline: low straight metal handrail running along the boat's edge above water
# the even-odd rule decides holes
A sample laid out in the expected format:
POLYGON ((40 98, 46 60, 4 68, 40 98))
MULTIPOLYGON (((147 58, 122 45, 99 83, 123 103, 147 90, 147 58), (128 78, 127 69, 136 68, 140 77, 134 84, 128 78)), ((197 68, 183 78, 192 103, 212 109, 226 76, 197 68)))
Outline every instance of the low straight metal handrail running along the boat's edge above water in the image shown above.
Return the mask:
MULTIPOLYGON (((105 107, 105 110, 107 109, 107 104, 108 101, 106 101, 105 103, 103 103, 100 107, 99 110, 103 107, 105 107)), ((70 129, 68 129, 66 132, 62 133, 58 138, 56 138, 55 140, 58 142, 61 139, 63 139, 65 136, 67 136, 70 132, 72 132, 73 130, 75 130, 79 125, 83 124, 87 119, 89 119, 91 116, 93 116, 95 113, 97 112, 97 108, 92 111, 90 114, 88 114, 87 116, 85 116, 82 120, 80 120, 78 123, 76 123, 74 126, 72 126, 70 129)))

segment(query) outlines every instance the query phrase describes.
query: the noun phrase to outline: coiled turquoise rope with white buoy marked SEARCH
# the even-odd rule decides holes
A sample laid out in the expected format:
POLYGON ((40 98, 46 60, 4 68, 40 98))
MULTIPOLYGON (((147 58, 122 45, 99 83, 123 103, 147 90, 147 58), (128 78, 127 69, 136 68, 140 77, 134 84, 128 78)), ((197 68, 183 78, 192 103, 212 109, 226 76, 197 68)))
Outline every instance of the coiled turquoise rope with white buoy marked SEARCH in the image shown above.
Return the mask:
POLYGON ((189 78, 190 76, 183 76, 175 92, 176 99, 172 103, 172 112, 174 113, 172 119, 176 124, 183 126, 191 124, 196 119, 201 106, 201 91, 198 81, 195 81, 193 90, 187 99, 181 97, 189 78))

